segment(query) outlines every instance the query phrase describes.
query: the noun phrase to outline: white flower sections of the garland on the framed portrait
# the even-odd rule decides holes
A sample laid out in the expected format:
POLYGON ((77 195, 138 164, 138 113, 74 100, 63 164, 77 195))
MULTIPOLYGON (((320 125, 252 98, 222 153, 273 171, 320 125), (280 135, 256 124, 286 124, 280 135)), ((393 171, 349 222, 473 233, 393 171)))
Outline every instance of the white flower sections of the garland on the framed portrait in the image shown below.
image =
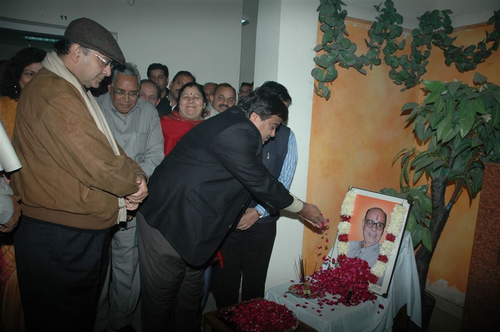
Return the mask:
MULTIPOLYGON (((340 216, 342 218, 347 217, 350 219, 350 217, 354 213, 354 202, 356 201, 356 196, 357 196, 356 189, 350 188, 347 194, 345 195, 345 198, 340 207, 340 216)), ((407 209, 403 205, 397 204, 394 206, 392 212, 390 213, 390 218, 387 222, 388 223, 386 228, 387 235, 396 237, 401 233, 401 228, 403 227, 404 220, 406 218, 406 212, 407 209)), ((341 221, 337 227, 338 235, 346 234, 348 236, 350 233, 350 227, 351 227, 350 221, 341 221)), ((385 236, 386 239, 387 235, 385 236)), ((393 241, 384 240, 380 245, 378 253, 380 256, 385 256, 388 259, 392 254, 394 247, 395 243, 393 241)), ((348 248, 347 241, 337 241, 338 256, 347 255, 347 248, 348 248)), ((371 267, 370 272, 377 278, 381 278, 385 274, 386 268, 387 268, 387 263, 377 259, 375 261, 375 264, 373 264, 373 266, 371 267)), ((369 289, 373 290, 373 287, 375 287, 375 284, 370 283, 369 289)))

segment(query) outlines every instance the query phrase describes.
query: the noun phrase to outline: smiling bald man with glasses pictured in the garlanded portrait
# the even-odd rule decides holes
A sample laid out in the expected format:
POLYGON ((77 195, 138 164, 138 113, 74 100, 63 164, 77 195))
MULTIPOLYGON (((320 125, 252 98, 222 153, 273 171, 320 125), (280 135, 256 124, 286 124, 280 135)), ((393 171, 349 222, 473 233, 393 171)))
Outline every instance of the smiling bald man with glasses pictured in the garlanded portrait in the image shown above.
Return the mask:
POLYGON ((361 223, 363 231, 362 241, 349 241, 347 257, 358 257, 368 262, 371 267, 378 258, 378 242, 382 238, 387 215, 380 208, 366 210, 361 223))

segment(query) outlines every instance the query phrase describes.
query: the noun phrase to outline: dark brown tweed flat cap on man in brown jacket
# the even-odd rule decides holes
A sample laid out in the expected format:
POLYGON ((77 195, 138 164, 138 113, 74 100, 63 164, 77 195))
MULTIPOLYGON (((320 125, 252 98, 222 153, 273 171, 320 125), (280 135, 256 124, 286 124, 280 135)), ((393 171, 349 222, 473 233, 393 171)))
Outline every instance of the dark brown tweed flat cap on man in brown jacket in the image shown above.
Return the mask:
POLYGON ((94 49, 120 64, 125 63, 125 57, 113 35, 90 18, 81 17, 71 21, 64 31, 64 37, 81 46, 94 49))

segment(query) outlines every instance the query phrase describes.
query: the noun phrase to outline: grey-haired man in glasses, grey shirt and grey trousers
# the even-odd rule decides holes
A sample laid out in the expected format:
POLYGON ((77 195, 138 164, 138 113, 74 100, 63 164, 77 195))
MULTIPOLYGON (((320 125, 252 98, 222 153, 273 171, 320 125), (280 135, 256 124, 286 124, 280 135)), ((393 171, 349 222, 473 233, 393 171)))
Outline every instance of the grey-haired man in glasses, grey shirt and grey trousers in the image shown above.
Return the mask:
MULTIPOLYGON (((139 89, 139 79, 135 64, 125 62, 124 66, 117 66, 109 93, 98 97, 97 103, 116 142, 149 177, 163 160, 163 135, 154 106, 138 98, 143 91, 139 89)), ((97 308, 96 332, 105 331, 108 326, 116 331, 135 331, 132 322, 140 281, 135 218, 129 219, 116 225, 112 233, 111 259, 97 308)))

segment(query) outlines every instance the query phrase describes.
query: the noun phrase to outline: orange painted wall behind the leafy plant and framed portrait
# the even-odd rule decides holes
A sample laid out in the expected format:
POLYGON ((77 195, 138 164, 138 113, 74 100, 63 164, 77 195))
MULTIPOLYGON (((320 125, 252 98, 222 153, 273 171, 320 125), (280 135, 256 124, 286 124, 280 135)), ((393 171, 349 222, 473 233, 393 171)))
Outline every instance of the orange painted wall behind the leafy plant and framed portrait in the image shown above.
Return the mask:
MULTIPOLYGON (((365 53, 363 39, 371 22, 346 20, 349 38, 357 44, 357 54, 365 53)), ((482 40, 491 26, 460 29, 455 45, 468 46, 482 40)), ((318 29, 318 43, 321 31, 318 29)), ((409 44, 409 40, 406 41, 409 44)), ((408 47, 406 47, 408 48, 408 47)), ((411 127, 406 128, 400 108, 408 101, 420 102, 423 92, 414 87, 400 92, 388 77, 389 67, 367 70, 364 76, 354 69, 338 69, 328 101, 314 95, 307 201, 314 202, 331 219, 329 230, 318 234, 304 230, 302 255, 308 262, 320 262, 336 235, 340 204, 349 186, 379 191, 384 187, 399 188, 399 163, 391 165, 394 155, 414 141, 411 127), (329 243, 325 239, 328 238, 329 243), (322 246, 318 250, 317 247, 322 246)), ((477 71, 490 82, 500 82, 500 52, 494 52, 477 71)), ((460 73, 444 64, 442 51, 433 48, 423 79, 453 80, 472 84, 473 72, 460 73)), ((451 195, 452 188, 448 196, 451 195)), ((449 197, 448 197, 449 198, 449 197)), ((466 192, 453 207, 431 262, 430 282, 444 279, 449 286, 465 292, 470 253, 477 215, 478 199, 469 206, 466 192)), ((314 266, 314 264, 307 264, 314 266)), ((311 272, 311 271, 309 271, 311 272)))

